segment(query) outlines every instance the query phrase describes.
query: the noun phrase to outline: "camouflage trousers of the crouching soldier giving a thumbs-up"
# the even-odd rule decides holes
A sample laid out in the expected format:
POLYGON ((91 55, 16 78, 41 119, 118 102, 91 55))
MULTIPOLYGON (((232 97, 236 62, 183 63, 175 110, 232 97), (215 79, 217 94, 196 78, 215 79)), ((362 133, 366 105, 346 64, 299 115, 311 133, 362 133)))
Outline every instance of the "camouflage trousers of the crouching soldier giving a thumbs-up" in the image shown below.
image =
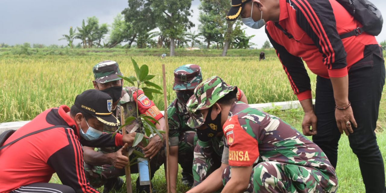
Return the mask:
MULTIPOLYGON (((137 149, 138 150, 138 149, 137 149)), ((153 178, 154 173, 159 169, 159 167, 165 161, 165 149, 161 148, 156 156, 153 157, 150 161, 150 172, 151 178, 153 178)), ((132 159, 134 158, 134 154, 130 156, 130 162, 135 162, 132 159)), ((103 186, 107 179, 117 178, 119 176, 125 175, 125 169, 117 169, 112 165, 103 165, 103 166, 92 166, 90 164, 84 164, 85 174, 88 181, 94 188, 99 188, 103 186)), ((134 164, 130 166, 130 171, 132 174, 138 173, 138 164, 134 164)))

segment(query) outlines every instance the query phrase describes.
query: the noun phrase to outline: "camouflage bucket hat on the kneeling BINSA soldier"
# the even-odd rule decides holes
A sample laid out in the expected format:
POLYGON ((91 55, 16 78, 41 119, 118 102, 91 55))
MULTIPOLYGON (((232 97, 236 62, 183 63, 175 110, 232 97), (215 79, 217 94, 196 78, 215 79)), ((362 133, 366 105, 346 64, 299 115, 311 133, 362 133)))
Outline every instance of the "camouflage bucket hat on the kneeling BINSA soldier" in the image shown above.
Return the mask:
POLYGON ((236 86, 227 85, 227 83, 218 76, 212 76, 200 83, 195 89, 194 95, 192 95, 186 103, 186 107, 191 116, 188 120, 188 126, 191 128, 200 127, 205 120, 199 110, 212 107, 220 98, 234 91, 236 88, 236 86))

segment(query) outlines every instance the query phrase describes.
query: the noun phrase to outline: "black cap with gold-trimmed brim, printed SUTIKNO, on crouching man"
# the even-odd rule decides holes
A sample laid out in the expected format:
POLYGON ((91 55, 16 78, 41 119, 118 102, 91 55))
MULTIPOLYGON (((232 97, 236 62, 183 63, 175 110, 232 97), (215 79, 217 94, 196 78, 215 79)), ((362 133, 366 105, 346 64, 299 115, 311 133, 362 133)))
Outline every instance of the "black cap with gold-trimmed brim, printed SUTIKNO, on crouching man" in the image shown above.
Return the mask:
POLYGON ((90 113, 105 125, 120 125, 119 120, 112 113, 113 99, 107 93, 97 89, 86 90, 76 96, 74 105, 90 113))

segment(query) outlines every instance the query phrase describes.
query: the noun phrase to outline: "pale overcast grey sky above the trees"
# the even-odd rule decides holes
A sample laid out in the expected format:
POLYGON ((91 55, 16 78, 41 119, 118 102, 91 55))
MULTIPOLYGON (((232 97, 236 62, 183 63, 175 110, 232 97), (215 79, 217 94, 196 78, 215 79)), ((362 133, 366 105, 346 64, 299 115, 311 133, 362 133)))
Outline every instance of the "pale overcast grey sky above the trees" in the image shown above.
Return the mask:
MULTIPOLYGON (((386 1, 371 0, 386 19, 386 1)), ((196 30, 198 22, 198 5, 200 0, 193 0, 191 21, 196 30)), ((127 7, 127 0, 0 0, 0 43, 10 45, 24 42, 41 44, 66 44, 58 41, 62 34, 68 34, 69 26, 80 26, 82 19, 96 16, 100 23, 111 24, 113 18, 127 7)), ((246 27, 244 25, 244 27, 246 27)), ((249 36, 256 35, 252 42, 261 47, 267 36, 264 29, 246 27, 249 36)), ((386 39, 386 29, 377 40, 386 39)))

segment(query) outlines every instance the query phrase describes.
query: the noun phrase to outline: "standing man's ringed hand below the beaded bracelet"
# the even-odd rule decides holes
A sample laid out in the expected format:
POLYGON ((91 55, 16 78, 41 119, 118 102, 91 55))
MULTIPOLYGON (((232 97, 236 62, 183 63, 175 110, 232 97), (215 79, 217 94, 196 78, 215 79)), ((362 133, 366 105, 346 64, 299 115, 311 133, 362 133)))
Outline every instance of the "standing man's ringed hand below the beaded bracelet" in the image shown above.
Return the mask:
POLYGON ((337 121, 340 134, 343 134, 344 132, 346 135, 350 135, 350 133, 354 132, 352 130, 352 126, 354 125, 355 128, 358 126, 354 119, 351 107, 345 110, 335 109, 335 119, 337 121))

